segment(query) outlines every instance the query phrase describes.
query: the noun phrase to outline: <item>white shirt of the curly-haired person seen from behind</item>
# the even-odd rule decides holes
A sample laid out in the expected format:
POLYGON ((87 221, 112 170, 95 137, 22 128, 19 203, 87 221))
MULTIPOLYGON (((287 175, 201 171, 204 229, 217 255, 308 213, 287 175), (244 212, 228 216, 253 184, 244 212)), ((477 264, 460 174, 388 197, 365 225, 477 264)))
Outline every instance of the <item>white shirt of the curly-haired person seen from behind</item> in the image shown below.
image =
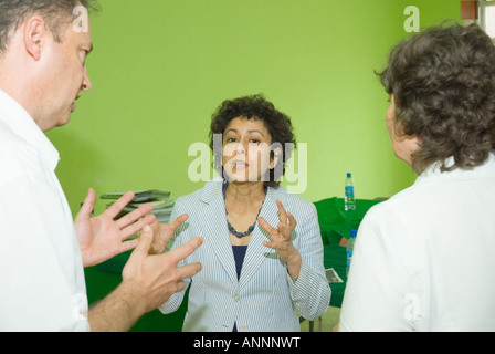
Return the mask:
POLYGON ((362 220, 340 330, 495 331, 494 275, 495 156, 431 166, 362 220))

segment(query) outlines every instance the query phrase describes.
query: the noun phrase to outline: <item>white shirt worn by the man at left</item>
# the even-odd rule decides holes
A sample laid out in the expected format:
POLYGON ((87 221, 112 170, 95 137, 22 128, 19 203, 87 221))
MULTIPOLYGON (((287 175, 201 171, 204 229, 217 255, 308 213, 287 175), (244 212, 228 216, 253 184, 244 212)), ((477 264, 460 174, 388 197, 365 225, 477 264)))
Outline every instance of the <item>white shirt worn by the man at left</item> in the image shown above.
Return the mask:
POLYGON ((0 90, 0 331, 88 331, 84 270, 59 153, 0 90))

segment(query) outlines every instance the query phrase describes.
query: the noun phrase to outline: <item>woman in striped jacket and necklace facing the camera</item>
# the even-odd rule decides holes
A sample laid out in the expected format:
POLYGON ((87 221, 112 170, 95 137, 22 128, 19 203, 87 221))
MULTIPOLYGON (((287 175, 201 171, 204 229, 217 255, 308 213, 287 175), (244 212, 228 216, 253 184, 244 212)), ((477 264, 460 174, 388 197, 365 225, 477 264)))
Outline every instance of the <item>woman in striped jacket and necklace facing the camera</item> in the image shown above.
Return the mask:
MULTIPOLYGON (((291 121, 259 95, 225 101, 210 138, 224 178, 178 198, 171 217, 189 215, 173 248, 203 237, 185 261, 201 262, 202 271, 187 282, 183 331, 299 331, 296 311, 319 317, 330 289, 314 205, 278 186, 295 144, 291 121)), ((176 311, 185 292, 160 311, 176 311)))

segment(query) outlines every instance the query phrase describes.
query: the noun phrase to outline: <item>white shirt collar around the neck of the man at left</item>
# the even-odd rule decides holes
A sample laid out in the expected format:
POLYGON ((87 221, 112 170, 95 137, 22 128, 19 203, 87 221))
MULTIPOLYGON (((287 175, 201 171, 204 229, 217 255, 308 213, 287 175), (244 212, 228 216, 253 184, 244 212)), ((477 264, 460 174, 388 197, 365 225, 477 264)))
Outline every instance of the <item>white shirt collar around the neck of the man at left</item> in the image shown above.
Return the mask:
POLYGON ((34 146, 40 152, 43 164, 55 170, 60 160, 59 152, 24 107, 2 90, 0 90, 0 121, 29 145, 34 146))

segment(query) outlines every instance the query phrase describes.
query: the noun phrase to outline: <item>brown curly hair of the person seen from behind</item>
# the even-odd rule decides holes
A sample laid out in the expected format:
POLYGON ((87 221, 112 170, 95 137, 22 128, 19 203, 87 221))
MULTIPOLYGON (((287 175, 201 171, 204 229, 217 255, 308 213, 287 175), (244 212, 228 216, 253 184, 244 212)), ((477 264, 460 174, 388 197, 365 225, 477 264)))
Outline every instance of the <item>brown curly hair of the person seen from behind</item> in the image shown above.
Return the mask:
POLYGON ((396 132, 420 139, 415 173, 435 162, 442 171, 476 167, 495 150, 495 46, 480 27, 428 29, 397 45, 379 75, 396 132))

